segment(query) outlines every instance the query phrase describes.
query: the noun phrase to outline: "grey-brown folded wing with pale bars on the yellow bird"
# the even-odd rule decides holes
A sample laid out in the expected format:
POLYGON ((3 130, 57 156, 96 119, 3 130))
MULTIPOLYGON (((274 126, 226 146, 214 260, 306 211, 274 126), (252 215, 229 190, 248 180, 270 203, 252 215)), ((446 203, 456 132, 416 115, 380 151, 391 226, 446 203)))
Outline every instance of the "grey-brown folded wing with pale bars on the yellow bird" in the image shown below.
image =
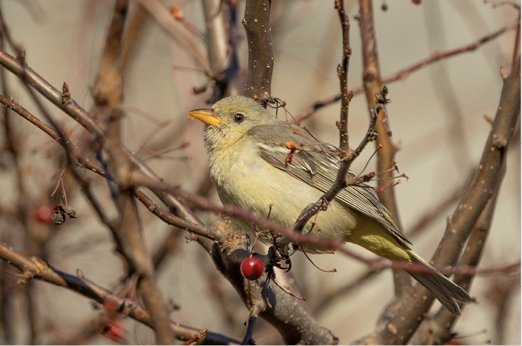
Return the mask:
MULTIPOLYGON (((249 132, 257 145, 258 155, 267 163, 323 192, 327 192, 334 185, 340 166, 334 146, 312 138, 305 130, 290 123, 259 126, 249 132), (282 128, 284 131, 281 131, 282 128), (280 133, 282 134, 278 135, 280 133), (281 137, 274 138, 275 136, 281 137), (270 138, 270 141, 267 138, 270 138), (295 150, 292 155, 292 151, 287 148, 288 142, 295 143, 300 150, 295 150)), ((355 176, 352 172, 348 175, 355 176)), ((389 211, 372 193, 369 185, 347 186, 339 191, 335 198, 349 208, 382 223, 396 238, 411 244, 391 220, 389 211)))

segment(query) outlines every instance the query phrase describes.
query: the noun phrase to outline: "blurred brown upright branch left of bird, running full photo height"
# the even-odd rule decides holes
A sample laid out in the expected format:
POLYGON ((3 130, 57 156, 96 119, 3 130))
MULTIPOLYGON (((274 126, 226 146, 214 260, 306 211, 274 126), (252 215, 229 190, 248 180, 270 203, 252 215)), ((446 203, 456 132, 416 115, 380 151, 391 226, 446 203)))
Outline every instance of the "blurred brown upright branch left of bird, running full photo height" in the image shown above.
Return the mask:
POLYGON ((128 11, 128 0, 118 0, 108 29, 106 46, 103 51, 98 78, 93 87, 96 106, 106 111, 108 116, 107 140, 105 148, 111 158, 118 195, 119 223, 115 238, 120 238, 123 256, 138 275, 138 292, 150 312, 156 342, 173 344, 173 332, 168 320, 168 312, 155 281, 153 262, 145 248, 138 209, 133 197, 133 176, 136 167, 130 163, 121 143, 121 121, 125 116, 123 102, 123 73, 121 51, 123 29, 128 11))

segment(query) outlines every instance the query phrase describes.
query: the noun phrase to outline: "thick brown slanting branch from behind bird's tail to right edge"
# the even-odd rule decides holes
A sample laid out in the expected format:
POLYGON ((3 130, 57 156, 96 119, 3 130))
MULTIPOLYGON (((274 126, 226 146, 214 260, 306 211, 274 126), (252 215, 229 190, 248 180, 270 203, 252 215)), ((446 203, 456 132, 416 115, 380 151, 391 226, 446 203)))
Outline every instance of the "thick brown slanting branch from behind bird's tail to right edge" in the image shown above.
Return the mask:
MULTIPOLYGON (((483 151, 481 162, 466 194, 454 214, 449 217, 444 237, 432 258, 435 266, 455 265, 466 239, 501 183, 503 165, 509 143, 520 115, 521 107, 521 60, 504 81, 495 121, 483 151)), ((434 298, 425 288, 417 285, 411 297, 401 302, 387 327, 366 337, 373 342, 397 343, 408 340, 416 328, 415 320, 421 319, 429 310, 434 298), (424 299, 427 297, 427 299, 424 299), (406 317, 407 318, 404 318, 406 317), (403 319, 404 320, 401 320, 403 319), (391 326, 391 327, 390 327, 391 326), (393 332, 393 331, 398 332, 393 332)))

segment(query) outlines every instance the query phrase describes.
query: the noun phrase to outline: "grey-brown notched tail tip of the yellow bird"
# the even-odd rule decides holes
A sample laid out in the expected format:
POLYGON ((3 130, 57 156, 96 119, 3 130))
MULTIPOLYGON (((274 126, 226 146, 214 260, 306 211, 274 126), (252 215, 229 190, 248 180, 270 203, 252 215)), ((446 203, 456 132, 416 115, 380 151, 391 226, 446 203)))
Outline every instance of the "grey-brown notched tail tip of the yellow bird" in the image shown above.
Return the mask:
POLYGON ((421 285, 431 292, 439 302, 441 302, 446 309, 449 310, 453 315, 460 315, 461 309, 457 302, 473 302, 473 299, 468 293, 456 285, 453 281, 442 275, 439 270, 433 268, 429 263, 423 260, 419 255, 414 253, 412 250, 408 251, 411 263, 419 263, 425 265, 431 270, 431 273, 414 272, 412 270, 406 270, 415 280, 419 281, 421 285))

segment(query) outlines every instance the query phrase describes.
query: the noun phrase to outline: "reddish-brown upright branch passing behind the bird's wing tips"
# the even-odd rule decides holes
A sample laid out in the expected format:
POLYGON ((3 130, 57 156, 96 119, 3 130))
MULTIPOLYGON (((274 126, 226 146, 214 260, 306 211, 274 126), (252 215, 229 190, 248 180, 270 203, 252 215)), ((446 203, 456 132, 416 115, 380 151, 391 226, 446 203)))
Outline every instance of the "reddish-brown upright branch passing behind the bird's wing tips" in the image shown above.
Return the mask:
MULTIPOLYGON (((382 88, 381 76, 379 73, 379 58, 377 56, 377 39, 375 37, 374 16, 372 9, 372 0, 359 0, 360 7, 360 24, 362 36, 362 57, 363 57, 363 85, 364 92, 370 113, 376 105, 376 95, 380 93, 382 88)), ((389 123, 387 114, 384 111, 379 112, 379 120, 375 124, 375 131, 379 133, 375 146, 382 148, 377 151, 377 172, 379 174, 379 186, 386 187, 393 183, 391 180, 393 171, 387 171, 394 161, 395 149, 391 143, 389 136, 389 123)), ((399 230, 402 229, 401 220, 399 218, 399 210, 395 203, 395 193, 393 188, 386 188, 383 192, 377 192, 379 200, 384 207, 391 213, 391 218, 399 230)), ((411 289, 411 280, 409 275, 402 270, 394 269, 395 295, 401 297, 404 293, 411 289)))

